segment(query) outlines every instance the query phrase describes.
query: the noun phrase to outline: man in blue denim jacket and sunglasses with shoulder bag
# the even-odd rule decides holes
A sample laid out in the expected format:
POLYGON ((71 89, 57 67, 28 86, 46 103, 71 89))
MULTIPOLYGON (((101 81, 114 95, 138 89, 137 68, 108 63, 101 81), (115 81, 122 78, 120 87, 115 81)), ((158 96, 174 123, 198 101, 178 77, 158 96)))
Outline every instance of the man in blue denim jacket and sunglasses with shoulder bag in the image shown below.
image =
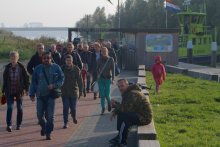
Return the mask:
POLYGON ((42 64, 33 72, 29 96, 32 101, 37 97, 37 118, 41 126, 41 136, 51 140, 54 128, 55 97, 50 94, 54 88, 60 88, 64 82, 64 74, 59 65, 52 63, 50 52, 42 55, 42 64), (49 84, 48 84, 48 82, 49 84), (46 114, 46 116, 44 116, 46 114))

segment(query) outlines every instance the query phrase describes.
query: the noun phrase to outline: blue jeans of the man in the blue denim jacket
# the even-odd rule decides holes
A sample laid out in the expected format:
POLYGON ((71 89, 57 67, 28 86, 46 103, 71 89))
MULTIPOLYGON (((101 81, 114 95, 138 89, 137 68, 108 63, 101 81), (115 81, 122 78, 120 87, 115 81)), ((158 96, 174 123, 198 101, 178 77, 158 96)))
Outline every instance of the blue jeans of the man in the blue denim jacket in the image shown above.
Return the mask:
POLYGON ((50 135, 54 128, 54 110, 54 98, 49 96, 37 98, 37 118, 46 135, 50 135))

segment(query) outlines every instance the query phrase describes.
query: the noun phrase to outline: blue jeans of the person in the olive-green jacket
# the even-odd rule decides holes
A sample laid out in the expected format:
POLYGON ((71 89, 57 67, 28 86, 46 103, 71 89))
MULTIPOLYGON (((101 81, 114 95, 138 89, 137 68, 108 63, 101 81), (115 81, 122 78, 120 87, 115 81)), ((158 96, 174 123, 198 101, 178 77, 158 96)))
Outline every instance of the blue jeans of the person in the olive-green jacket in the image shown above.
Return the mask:
POLYGON ((74 97, 63 97, 63 122, 64 124, 68 123, 69 109, 73 119, 76 119, 76 103, 77 98, 74 97))

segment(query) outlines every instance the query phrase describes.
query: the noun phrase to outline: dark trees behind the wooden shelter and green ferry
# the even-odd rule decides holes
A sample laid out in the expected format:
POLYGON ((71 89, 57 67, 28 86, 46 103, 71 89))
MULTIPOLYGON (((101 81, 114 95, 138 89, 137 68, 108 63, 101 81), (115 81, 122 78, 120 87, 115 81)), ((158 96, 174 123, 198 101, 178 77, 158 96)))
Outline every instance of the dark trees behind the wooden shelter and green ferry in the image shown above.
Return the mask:
MULTIPOLYGON (((116 1, 112 1, 116 3, 116 1)), ((184 10, 183 0, 173 0, 184 10)), ((220 33, 220 0, 192 0, 190 8, 194 12, 207 13, 207 26, 217 27, 220 33), (204 5, 206 4, 206 5, 204 5)), ((97 7, 95 12, 81 18, 76 27, 80 28, 118 28, 118 15, 120 15, 121 28, 165 28, 166 9, 164 0, 126 0, 120 4, 119 13, 106 15, 105 8, 97 7)), ((167 27, 178 28, 176 13, 167 11, 167 27)), ((218 33, 218 34, 219 34, 218 33)), ((81 34, 85 36, 86 34, 81 34)), ((107 33, 90 34, 92 38, 109 36, 107 33)), ((111 36, 111 35, 110 35, 111 36)), ((219 35, 218 35, 219 41, 219 35)), ((220 42, 220 41, 219 41, 220 42)))

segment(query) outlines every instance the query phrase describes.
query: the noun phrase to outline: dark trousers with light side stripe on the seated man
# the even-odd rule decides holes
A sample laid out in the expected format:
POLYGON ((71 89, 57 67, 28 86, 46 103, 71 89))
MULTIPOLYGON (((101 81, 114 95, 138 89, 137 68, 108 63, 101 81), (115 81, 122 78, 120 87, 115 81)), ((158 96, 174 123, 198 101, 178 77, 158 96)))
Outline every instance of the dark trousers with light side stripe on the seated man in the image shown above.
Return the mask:
POLYGON ((139 125, 140 121, 134 112, 120 112, 117 116, 117 130, 119 131, 119 143, 127 143, 128 129, 133 125, 139 125))

